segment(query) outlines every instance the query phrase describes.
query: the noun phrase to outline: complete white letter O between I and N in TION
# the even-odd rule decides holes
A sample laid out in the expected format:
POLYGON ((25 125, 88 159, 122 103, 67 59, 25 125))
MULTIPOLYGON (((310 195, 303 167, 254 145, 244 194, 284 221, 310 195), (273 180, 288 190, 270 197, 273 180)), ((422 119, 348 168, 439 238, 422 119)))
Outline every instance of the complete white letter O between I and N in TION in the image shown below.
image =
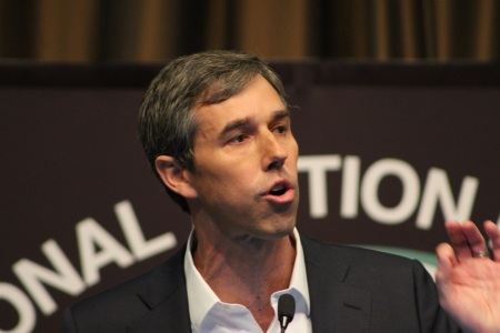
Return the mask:
POLYGON ((413 168, 404 161, 383 159, 367 170, 361 183, 361 204, 367 214, 382 224, 398 224, 407 220, 417 209, 420 181, 413 168), (402 183, 401 201, 393 208, 384 206, 378 198, 380 182, 394 175, 402 183))

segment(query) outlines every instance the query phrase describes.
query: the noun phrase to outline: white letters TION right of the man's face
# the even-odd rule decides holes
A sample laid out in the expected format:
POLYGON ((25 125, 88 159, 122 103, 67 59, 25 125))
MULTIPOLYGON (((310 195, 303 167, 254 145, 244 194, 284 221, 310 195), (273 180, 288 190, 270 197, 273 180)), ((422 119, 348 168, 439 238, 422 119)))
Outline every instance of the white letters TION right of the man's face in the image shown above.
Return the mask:
POLYGON ((347 155, 343 161, 338 154, 299 157, 299 172, 309 176, 309 214, 312 219, 328 216, 327 172, 342 169, 340 215, 344 219, 358 216, 360 205, 376 222, 398 224, 407 221, 420 208, 416 226, 428 230, 432 225, 438 203, 444 220, 468 220, 472 213, 479 180, 466 176, 458 195, 453 192, 446 171, 430 169, 420 196, 420 180, 416 170, 398 159, 382 159, 371 164, 361 175, 359 157, 347 155), (343 164, 343 168, 342 168, 343 164), (386 176, 396 176, 401 181, 401 200, 396 206, 384 206, 379 200, 380 183, 386 176), (360 185, 361 184, 361 185, 360 185))

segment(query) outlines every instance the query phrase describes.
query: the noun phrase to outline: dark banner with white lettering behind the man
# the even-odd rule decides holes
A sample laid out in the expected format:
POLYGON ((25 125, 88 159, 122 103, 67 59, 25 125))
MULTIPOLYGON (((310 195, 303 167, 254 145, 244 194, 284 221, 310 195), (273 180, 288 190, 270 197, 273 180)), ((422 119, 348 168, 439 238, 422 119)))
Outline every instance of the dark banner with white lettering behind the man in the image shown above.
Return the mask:
MULTIPOLYGON (((299 107, 292 125, 303 163, 302 232, 431 253, 446 239, 443 212, 450 202, 461 214, 469 205, 477 221, 499 219, 499 65, 313 61, 273 67, 290 104, 299 107), (310 189, 313 173, 323 176, 323 185, 310 189), (349 179, 359 182, 346 192, 349 179), (431 218, 422 228, 417 219, 424 208, 431 218)), ((168 232, 178 245, 186 240, 189 219, 157 184, 137 141, 141 97, 159 69, 0 65, 0 331, 57 331, 64 307, 172 253, 163 244, 158 254, 134 258, 113 211, 118 203, 133 209, 143 246, 168 232), (93 229, 77 231, 88 225, 86 219, 92 219, 93 229), (81 254, 89 242, 94 244, 90 260, 88 252, 81 254), (54 259, 47 244, 56 244, 62 259, 54 259), (123 268, 112 244, 128 255, 123 268), (70 269, 58 268, 62 262, 70 269), (77 276, 70 276, 71 268, 77 276), (99 275, 93 282, 92 268, 99 275), (61 290, 61 276, 83 284, 69 294, 61 290)))

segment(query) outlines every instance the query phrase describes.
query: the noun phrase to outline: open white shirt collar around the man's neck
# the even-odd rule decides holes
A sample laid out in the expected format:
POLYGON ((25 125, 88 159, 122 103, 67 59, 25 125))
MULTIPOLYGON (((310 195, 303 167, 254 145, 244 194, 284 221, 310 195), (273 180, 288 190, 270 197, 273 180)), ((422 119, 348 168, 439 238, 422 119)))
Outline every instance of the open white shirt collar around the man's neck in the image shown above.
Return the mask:
MULTIPOLYGON (((201 323, 206 319, 209 311, 216 305, 220 304, 220 299, 210 289, 208 283, 203 280, 200 272, 194 266, 194 262, 191 255, 191 249, 194 238, 194 230, 191 231, 188 239, 188 248, 184 255, 184 273, 186 283, 188 289, 188 303, 189 315, 191 324, 196 332, 198 332, 201 323)), ((296 299, 297 312, 303 312, 307 316, 310 316, 310 302, 309 302, 309 289, 308 279, 306 273, 306 261, 303 256, 302 244, 300 242, 300 235, 297 228, 293 229, 291 234, 296 242, 296 260, 293 263, 292 276, 288 289, 278 291, 271 295, 271 304, 276 309, 278 299, 281 294, 290 293, 296 299)))

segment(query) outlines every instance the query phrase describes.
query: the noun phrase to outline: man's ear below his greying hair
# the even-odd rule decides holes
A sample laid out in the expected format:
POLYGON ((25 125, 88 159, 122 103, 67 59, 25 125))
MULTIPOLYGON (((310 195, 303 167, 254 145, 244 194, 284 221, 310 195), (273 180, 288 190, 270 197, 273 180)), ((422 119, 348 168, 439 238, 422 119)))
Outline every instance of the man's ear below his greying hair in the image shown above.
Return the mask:
POLYGON ((159 155, 154 165, 163 184, 186 199, 197 198, 198 193, 189 182, 189 171, 179 165, 174 158, 159 155))

